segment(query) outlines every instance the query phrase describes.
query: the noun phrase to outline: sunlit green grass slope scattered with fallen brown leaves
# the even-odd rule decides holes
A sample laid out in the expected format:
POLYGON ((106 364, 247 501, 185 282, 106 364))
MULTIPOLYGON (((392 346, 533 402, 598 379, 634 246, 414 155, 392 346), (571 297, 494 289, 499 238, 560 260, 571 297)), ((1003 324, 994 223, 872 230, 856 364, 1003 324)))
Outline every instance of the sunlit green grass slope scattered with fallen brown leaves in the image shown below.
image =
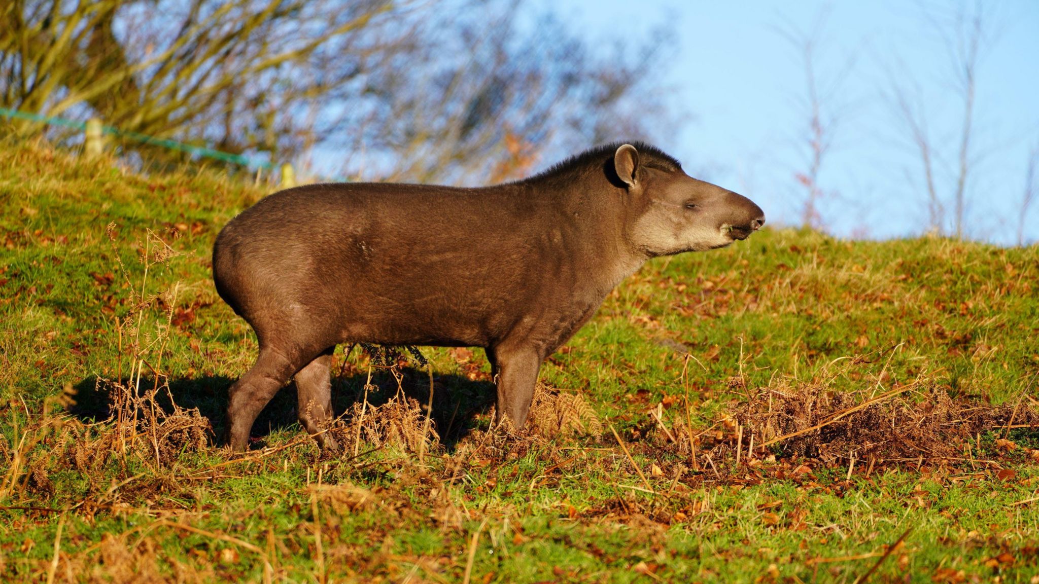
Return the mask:
POLYGON ((486 431, 481 352, 423 348, 425 440, 396 397, 424 403, 425 370, 341 348, 337 410, 358 416, 330 431, 346 452, 300 431, 290 387, 235 458, 213 436, 256 341, 209 254, 263 194, 0 151, 0 579, 853 582, 879 561, 874 581, 1039 581, 1035 429, 957 443, 967 460, 850 473, 855 452, 738 442, 763 391, 908 388, 891 399, 926 409, 926 387, 1023 416, 1039 246, 766 230, 624 282, 542 369, 559 394, 536 412, 555 426, 486 431))

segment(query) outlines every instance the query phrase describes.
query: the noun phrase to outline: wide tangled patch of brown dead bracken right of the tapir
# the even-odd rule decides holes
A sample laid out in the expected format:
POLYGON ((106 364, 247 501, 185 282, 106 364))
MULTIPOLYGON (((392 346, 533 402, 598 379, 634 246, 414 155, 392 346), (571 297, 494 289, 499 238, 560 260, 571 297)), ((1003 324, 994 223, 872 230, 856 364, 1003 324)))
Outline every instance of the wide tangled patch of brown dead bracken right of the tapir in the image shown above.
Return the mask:
MULTIPOLYGON (((741 461, 756 467, 780 458, 783 463, 807 458, 851 468, 855 460, 868 460, 869 469, 979 461, 998 466, 1018 448, 1008 440, 1012 429, 1039 428, 1039 402, 1028 392, 992 405, 951 394, 942 378, 926 371, 884 391, 880 364, 886 368, 886 360, 855 355, 832 362, 811 381, 780 379, 756 389, 748 388, 742 376, 730 377, 725 384, 745 399, 732 401, 714 423, 693 423, 688 395, 685 400, 670 398, 645 410, 631 440, 639 441, 634 448, 640 452, 668 452, 688 460, 692 471, 724 480, 743 468, 741 461), (871 372, 871 365, 877 370, 871 372), (833 382, 838 376, 873 380, 838 391, 833 382)), ((1015 456, 1021 455, 1039 460, 1039 450, 1024 449, 1015 456)))

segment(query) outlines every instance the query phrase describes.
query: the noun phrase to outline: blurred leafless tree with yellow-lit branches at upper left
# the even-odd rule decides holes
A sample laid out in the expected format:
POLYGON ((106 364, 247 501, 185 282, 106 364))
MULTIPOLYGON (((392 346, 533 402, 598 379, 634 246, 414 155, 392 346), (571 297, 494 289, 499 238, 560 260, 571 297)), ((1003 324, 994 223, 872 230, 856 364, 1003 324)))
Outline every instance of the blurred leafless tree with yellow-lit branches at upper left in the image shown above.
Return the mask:
POLYGON ((0 101, 222 150, 298 150, 292 111, 401 42, 388 0, 0 0, 0 101), (335 51, 339 58, 328 58, 335 51))

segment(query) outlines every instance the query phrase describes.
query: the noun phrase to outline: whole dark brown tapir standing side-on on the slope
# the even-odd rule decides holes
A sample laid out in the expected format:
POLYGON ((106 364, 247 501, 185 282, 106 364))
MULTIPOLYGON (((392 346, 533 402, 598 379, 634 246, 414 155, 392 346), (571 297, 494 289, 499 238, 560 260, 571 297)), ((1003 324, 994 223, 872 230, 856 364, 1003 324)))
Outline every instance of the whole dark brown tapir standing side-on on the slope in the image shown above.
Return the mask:
POLYGON ((313 184, 232 219, 213 280, 256 330, 256 365, 230 389, 231 448, 295 379, 323 448, 338 344, 482 347, 497 416, 522 428, 541 362, 648 259, 746 239, 745 196, 689 177, 641 142, 612 143, 528 179, 480 188, 313 184))

